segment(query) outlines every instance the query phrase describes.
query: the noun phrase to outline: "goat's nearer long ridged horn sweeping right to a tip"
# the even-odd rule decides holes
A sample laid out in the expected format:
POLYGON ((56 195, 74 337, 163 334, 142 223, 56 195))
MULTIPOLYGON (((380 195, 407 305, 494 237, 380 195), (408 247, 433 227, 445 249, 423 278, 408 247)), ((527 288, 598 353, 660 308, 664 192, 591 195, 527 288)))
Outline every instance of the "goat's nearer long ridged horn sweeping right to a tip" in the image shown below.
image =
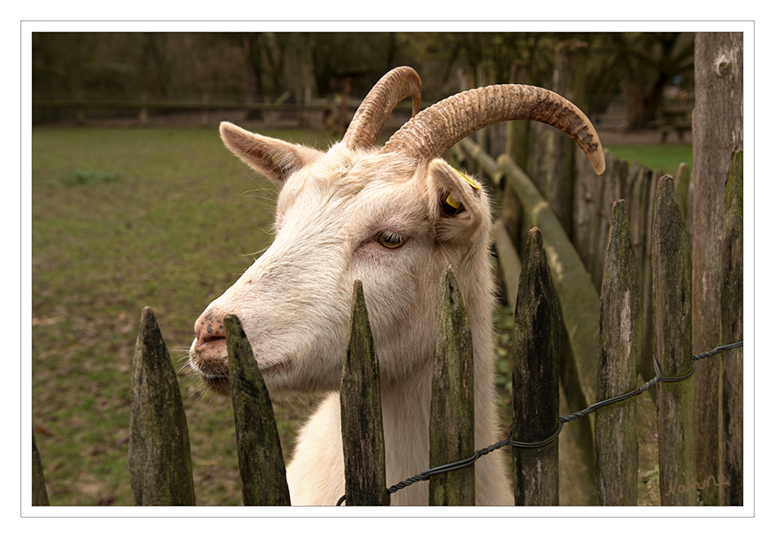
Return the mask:
POLYGON ((584 112, 553 91, 522 84, 470 89, 439 101, 398 129, 381 151, 433 159, 471 133, 512 119, 533 119, 562 130, 584 150, 598 175, 605 170, 603 146, 584 112))

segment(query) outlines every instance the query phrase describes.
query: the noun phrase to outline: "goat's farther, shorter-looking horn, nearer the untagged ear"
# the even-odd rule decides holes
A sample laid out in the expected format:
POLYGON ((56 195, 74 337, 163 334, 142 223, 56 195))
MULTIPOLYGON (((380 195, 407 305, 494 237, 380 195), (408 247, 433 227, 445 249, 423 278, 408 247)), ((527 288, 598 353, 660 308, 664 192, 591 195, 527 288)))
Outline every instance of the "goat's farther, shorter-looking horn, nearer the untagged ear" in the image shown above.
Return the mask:
POLYGON ((388 71, 356 110, 343 139, 346 147, 354 150, 373 146, 390 112, 405 98, 412 98, 412 116, 415 116, 419 111, 421 91, 419 75, 411 67, 396 67, 388 71))

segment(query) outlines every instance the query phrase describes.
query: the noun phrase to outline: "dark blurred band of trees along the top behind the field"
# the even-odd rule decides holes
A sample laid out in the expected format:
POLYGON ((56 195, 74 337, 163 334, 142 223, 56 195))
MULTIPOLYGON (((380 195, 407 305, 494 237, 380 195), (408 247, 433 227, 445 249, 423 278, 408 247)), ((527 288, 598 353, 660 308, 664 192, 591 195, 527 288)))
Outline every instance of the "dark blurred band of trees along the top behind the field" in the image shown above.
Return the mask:
POLYGON ((680 33, 36 33, 34 98, 330 97, 349 78, 363 97, 392 67, 421 74, 427 101, 462 86, 525 82, 552 88, 554 48, 588 44, 587 110, 627 96, 628 124, 656 119, 665 88, 693 79, 694 39, 680 33))

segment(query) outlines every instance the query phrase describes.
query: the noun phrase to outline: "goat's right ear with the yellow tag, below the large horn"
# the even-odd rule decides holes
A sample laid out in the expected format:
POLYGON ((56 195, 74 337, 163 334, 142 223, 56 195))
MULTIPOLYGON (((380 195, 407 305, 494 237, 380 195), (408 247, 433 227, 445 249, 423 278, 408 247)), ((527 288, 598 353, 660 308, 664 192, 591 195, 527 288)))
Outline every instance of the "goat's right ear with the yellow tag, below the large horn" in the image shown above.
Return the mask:
POLYGON ((469 239, 490 218, 480 184, 449 166, 446 160, 430 161, 428 181, 439 241, 469 239))

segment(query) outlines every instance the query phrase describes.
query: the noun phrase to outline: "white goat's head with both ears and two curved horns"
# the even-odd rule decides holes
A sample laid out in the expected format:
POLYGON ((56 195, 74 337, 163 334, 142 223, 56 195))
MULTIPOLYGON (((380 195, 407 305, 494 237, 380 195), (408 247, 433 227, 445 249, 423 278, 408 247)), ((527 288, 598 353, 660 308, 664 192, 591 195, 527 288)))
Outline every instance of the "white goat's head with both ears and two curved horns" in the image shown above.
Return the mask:
MULTIPOLYGON (((417 114, 419 95, 413 69, 390 71, 356 111, 344 140, 325 153, 222 123, 225 145, 281 191, 274 243, 196 321, 190 364, 207 386, 229 390, 222 328, 228 314, 242 321, 270 392, 318 392, 339 388, 356 279, 364 283, 388 386, 422 366, 414 357, 432 357, 424 351, 432 346, 445 267, 480 281, 490 302, 487 194, 440 159, 472 132, 504 120, 539 120, 573 137, 595 171, 604 168, 589 120, 549 90, 478 88, 417 114), (387 116, 408 97, 415 117, 376 148, 387 116)), ((461 289, 467 304, 466 294, 477 294, 461 289)))

